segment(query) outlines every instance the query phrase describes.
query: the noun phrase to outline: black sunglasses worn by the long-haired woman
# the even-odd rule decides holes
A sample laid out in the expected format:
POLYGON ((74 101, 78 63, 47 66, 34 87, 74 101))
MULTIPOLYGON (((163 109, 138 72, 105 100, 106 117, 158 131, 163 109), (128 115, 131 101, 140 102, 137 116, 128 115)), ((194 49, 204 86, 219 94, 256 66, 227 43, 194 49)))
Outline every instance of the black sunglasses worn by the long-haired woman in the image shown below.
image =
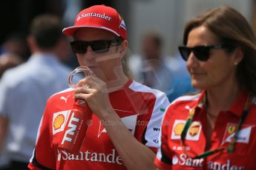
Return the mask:
POLYGON ((197 47, 180 46, 179 51, 180 51, 180 55, 183 57, 185 61, 188 61, 188 57, 191 52, 194 53, 194 56, 199 61, 207 61, 210 57, 209 52, 211 49, 223 49, 223 48, 226 48, 226 45, 218 44, 218 45, 197 46, 197 47))

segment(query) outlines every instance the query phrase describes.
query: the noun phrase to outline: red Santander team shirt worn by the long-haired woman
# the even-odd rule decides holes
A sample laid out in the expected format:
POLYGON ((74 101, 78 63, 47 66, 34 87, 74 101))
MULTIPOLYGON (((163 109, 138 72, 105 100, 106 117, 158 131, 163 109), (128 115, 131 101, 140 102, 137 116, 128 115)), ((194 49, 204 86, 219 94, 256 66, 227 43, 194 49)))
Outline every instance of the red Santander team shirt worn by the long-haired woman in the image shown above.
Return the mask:
MULTIPOLYGON (((172 169, 256 169, 255 98, 253 98, 249 114, 238 132, 234 152, 228 153, 224 150, 205 159, 191 159, 191 157, 206 152, 204 150, 206 148, 206 112, 203 106, 197 106, 204 95, 205 93, 203 92, 199 95, 183 96, 177 98, 176 101, 168 106, 163 118, 160 149, 155 159, 157 167, 161 169, 171 169, 171 167, 172 169), (188 118, 188 113, 194 106, 197 106, 198 110, 188 129, 185 140, 186 146, 182 146, 180 135, 188 118), (184 150, 186 150, 187 154, 184 150)), ((229 147, 229 143, 237 129, 237 123, 243 114, 247 97, 248 94, 246 92, 240 92, 230 109, 220 112, 217 116, 209 150, 229 147)))

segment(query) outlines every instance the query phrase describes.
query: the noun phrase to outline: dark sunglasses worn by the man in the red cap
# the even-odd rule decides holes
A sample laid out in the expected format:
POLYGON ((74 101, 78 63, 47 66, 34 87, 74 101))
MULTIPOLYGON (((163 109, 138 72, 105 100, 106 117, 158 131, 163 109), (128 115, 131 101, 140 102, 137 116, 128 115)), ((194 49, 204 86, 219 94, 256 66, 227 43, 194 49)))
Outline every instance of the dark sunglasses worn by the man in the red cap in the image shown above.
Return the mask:
POLYGON ((117 46, 121 41, 121 38, 116 38, 114 40, 70 41, 70 45, 72 51, 78 54, 85 54, 88 46, 91 47, 93 52, 105 53, 109 51, 111 46, 117 46))

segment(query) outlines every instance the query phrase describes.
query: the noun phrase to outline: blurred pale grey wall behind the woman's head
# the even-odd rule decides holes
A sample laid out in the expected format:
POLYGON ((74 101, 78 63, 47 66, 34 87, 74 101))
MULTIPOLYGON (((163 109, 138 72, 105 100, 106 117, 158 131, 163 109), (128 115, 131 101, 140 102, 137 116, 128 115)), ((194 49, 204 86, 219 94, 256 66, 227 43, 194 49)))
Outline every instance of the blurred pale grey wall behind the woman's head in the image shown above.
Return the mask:
MULTIPOLYGON (((121 0, 122 1, 122 0, 121 0)), ((129 40, 131 53, 140 53, 140 39, 148 30, 163 35, 164 52, 174 55, 182 44, 183 28, 189 18, 221 4, 228 4, 252 20, 252 0, 130 0, 129 40)))

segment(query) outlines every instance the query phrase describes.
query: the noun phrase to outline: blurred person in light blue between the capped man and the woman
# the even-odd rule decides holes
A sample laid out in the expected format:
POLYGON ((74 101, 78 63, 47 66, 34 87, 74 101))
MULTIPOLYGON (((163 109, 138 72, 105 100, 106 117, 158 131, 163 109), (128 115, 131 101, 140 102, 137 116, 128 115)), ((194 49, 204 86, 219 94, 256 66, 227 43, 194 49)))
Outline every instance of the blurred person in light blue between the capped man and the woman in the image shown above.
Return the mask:
POLYGON ((141 55, 128 58, 128 71, 136 81, 160 89, 173 101, 180 95, 194 91, 186 64, 180 56, 171 57, 163 52, 163 38, 157 32, 142 37, 141 55))

